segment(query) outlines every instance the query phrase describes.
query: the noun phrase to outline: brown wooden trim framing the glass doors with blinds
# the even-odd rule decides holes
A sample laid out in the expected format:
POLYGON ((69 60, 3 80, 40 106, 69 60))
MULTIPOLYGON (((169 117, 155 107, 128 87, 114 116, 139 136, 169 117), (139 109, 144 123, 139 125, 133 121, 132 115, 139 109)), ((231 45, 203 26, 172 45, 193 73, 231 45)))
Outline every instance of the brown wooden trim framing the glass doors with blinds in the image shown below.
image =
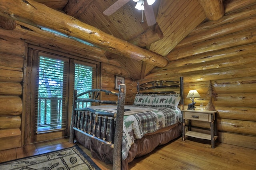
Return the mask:
MULTIPOLYGON (((27 53, 24 56, 24 81, 23 81, 23 114, 22 114, 22 144, 28 145, 31 143, 30 140, 30 110, 31 110, 31 82, 32 82, 32 60, 33 60, 33 55, 36 52, 42 52, 42 53, 48 53, 49 55, 60 55, 61 57, 66 57, 67 59, 70 59, 70 64, 72 62, 81 62, 81 63, 90 63, 96 65, 96 88, 101 87, 101 72, 102 72, 102 65, 101 62, 98 61, 92 61, 90 59, 86 59, 84 57, 78 56, 78 55, 71 55, 67 53, 63 53, 60 51, 55 51, 52 49, 46 49, 44 47, 38 47, 36 45, 28 44, 26 43, 27 47, 27 53)), ((69 81, 70 83, 71 81, 69 81)), ((68 117, 67 117, 67 122, 68 122, 68 128, 67 128, 67 135, 70 134, 70 122, 71 122, 71 113, 72 113, 72 100, 70 98, 73 97, 73 90, 74 86, 70 86, 69 84, 69 89, 68 89, 68 96, 69 96, 69 101, 68 101, 68 117)))

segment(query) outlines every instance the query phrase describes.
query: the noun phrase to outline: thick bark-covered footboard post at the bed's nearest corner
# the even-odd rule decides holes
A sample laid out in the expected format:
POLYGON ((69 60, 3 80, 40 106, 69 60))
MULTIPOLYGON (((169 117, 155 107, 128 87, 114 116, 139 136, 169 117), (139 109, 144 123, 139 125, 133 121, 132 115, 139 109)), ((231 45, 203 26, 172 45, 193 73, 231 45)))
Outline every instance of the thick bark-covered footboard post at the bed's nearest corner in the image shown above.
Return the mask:
POLYGON ((121 84, 119 85, 119 95, 118 95, 118 102, 117 102, 116 131, 115 131, 114 154, 113 154, 113 170, 121 169, 125 95, 126 95, 126 85, 121 84))

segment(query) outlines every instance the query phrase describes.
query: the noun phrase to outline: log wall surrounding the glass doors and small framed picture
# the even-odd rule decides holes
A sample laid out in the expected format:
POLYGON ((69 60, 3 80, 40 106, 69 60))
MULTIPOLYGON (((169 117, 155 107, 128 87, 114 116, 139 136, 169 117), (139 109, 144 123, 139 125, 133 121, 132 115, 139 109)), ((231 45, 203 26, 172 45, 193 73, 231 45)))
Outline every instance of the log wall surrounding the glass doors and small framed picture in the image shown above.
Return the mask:
MULTIPOLYGON (((52 45, 51 43, 54 43, 54 41, 49 42, 42 36, 39 38, 37 34, 33 36, 33 32, 28 30, 26 32, 28 33, 20 31, 18 28, 12 31, 0 28, 0 150, 16 148, 24 144, 25 117, 29 115, 24 115, 24 109, 26 108, 23 107, 22 98, 24 97, 23 93, 30 93, 22 91, 25 78, 23 64, 26 62, 24 61, 24 56, 27 53, 27 42, 35 45, 40 41, 41 44, 38 45, 41 47, 44 46, 44 43, 48 43, 52 47, 51 51, 63 52, 63 49, 67 49, 64 43, 52 45), (29 34, 32 39, 25 41, 24 39, 28 38, 26 34, 29 34), (54 46, 58 46, 58 48, 54 48, 54 46)), ((70 51, 67 52, 70 53, 70 51)), ((82 51, 79 55, 82 60, 82 51)), ((118 63, 102 62, 101 65, 102 88, 118 92, 118 90, 114 90, 115 75, 122 76, 125 78, 126 96, 130 97, 130 99, 126 100, 126 103, 132 102, 133 79, 130 78, 129 73, 122 69, 118 63)), ((108 96, 104 97, 108 99, 108 96)))

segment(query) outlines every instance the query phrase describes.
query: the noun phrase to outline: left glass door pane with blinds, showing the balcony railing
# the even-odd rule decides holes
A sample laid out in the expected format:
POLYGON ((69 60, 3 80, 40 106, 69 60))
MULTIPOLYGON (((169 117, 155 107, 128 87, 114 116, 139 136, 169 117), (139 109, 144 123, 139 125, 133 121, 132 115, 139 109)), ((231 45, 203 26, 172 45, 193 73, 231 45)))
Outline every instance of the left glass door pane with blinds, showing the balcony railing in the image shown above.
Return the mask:
POLYGON ((66 128, 68 61, 38 57, 36 132, 66 128))

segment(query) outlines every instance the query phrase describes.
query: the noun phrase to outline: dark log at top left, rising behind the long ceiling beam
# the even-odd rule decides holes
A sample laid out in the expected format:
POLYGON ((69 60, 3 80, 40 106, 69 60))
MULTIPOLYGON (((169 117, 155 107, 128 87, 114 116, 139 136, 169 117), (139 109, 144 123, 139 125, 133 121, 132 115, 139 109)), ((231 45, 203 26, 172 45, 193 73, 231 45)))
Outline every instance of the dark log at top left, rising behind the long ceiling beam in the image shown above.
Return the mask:
POLYGON ((94 0, 69 0, 63 9, 66 14, 78 18, 94 0))

